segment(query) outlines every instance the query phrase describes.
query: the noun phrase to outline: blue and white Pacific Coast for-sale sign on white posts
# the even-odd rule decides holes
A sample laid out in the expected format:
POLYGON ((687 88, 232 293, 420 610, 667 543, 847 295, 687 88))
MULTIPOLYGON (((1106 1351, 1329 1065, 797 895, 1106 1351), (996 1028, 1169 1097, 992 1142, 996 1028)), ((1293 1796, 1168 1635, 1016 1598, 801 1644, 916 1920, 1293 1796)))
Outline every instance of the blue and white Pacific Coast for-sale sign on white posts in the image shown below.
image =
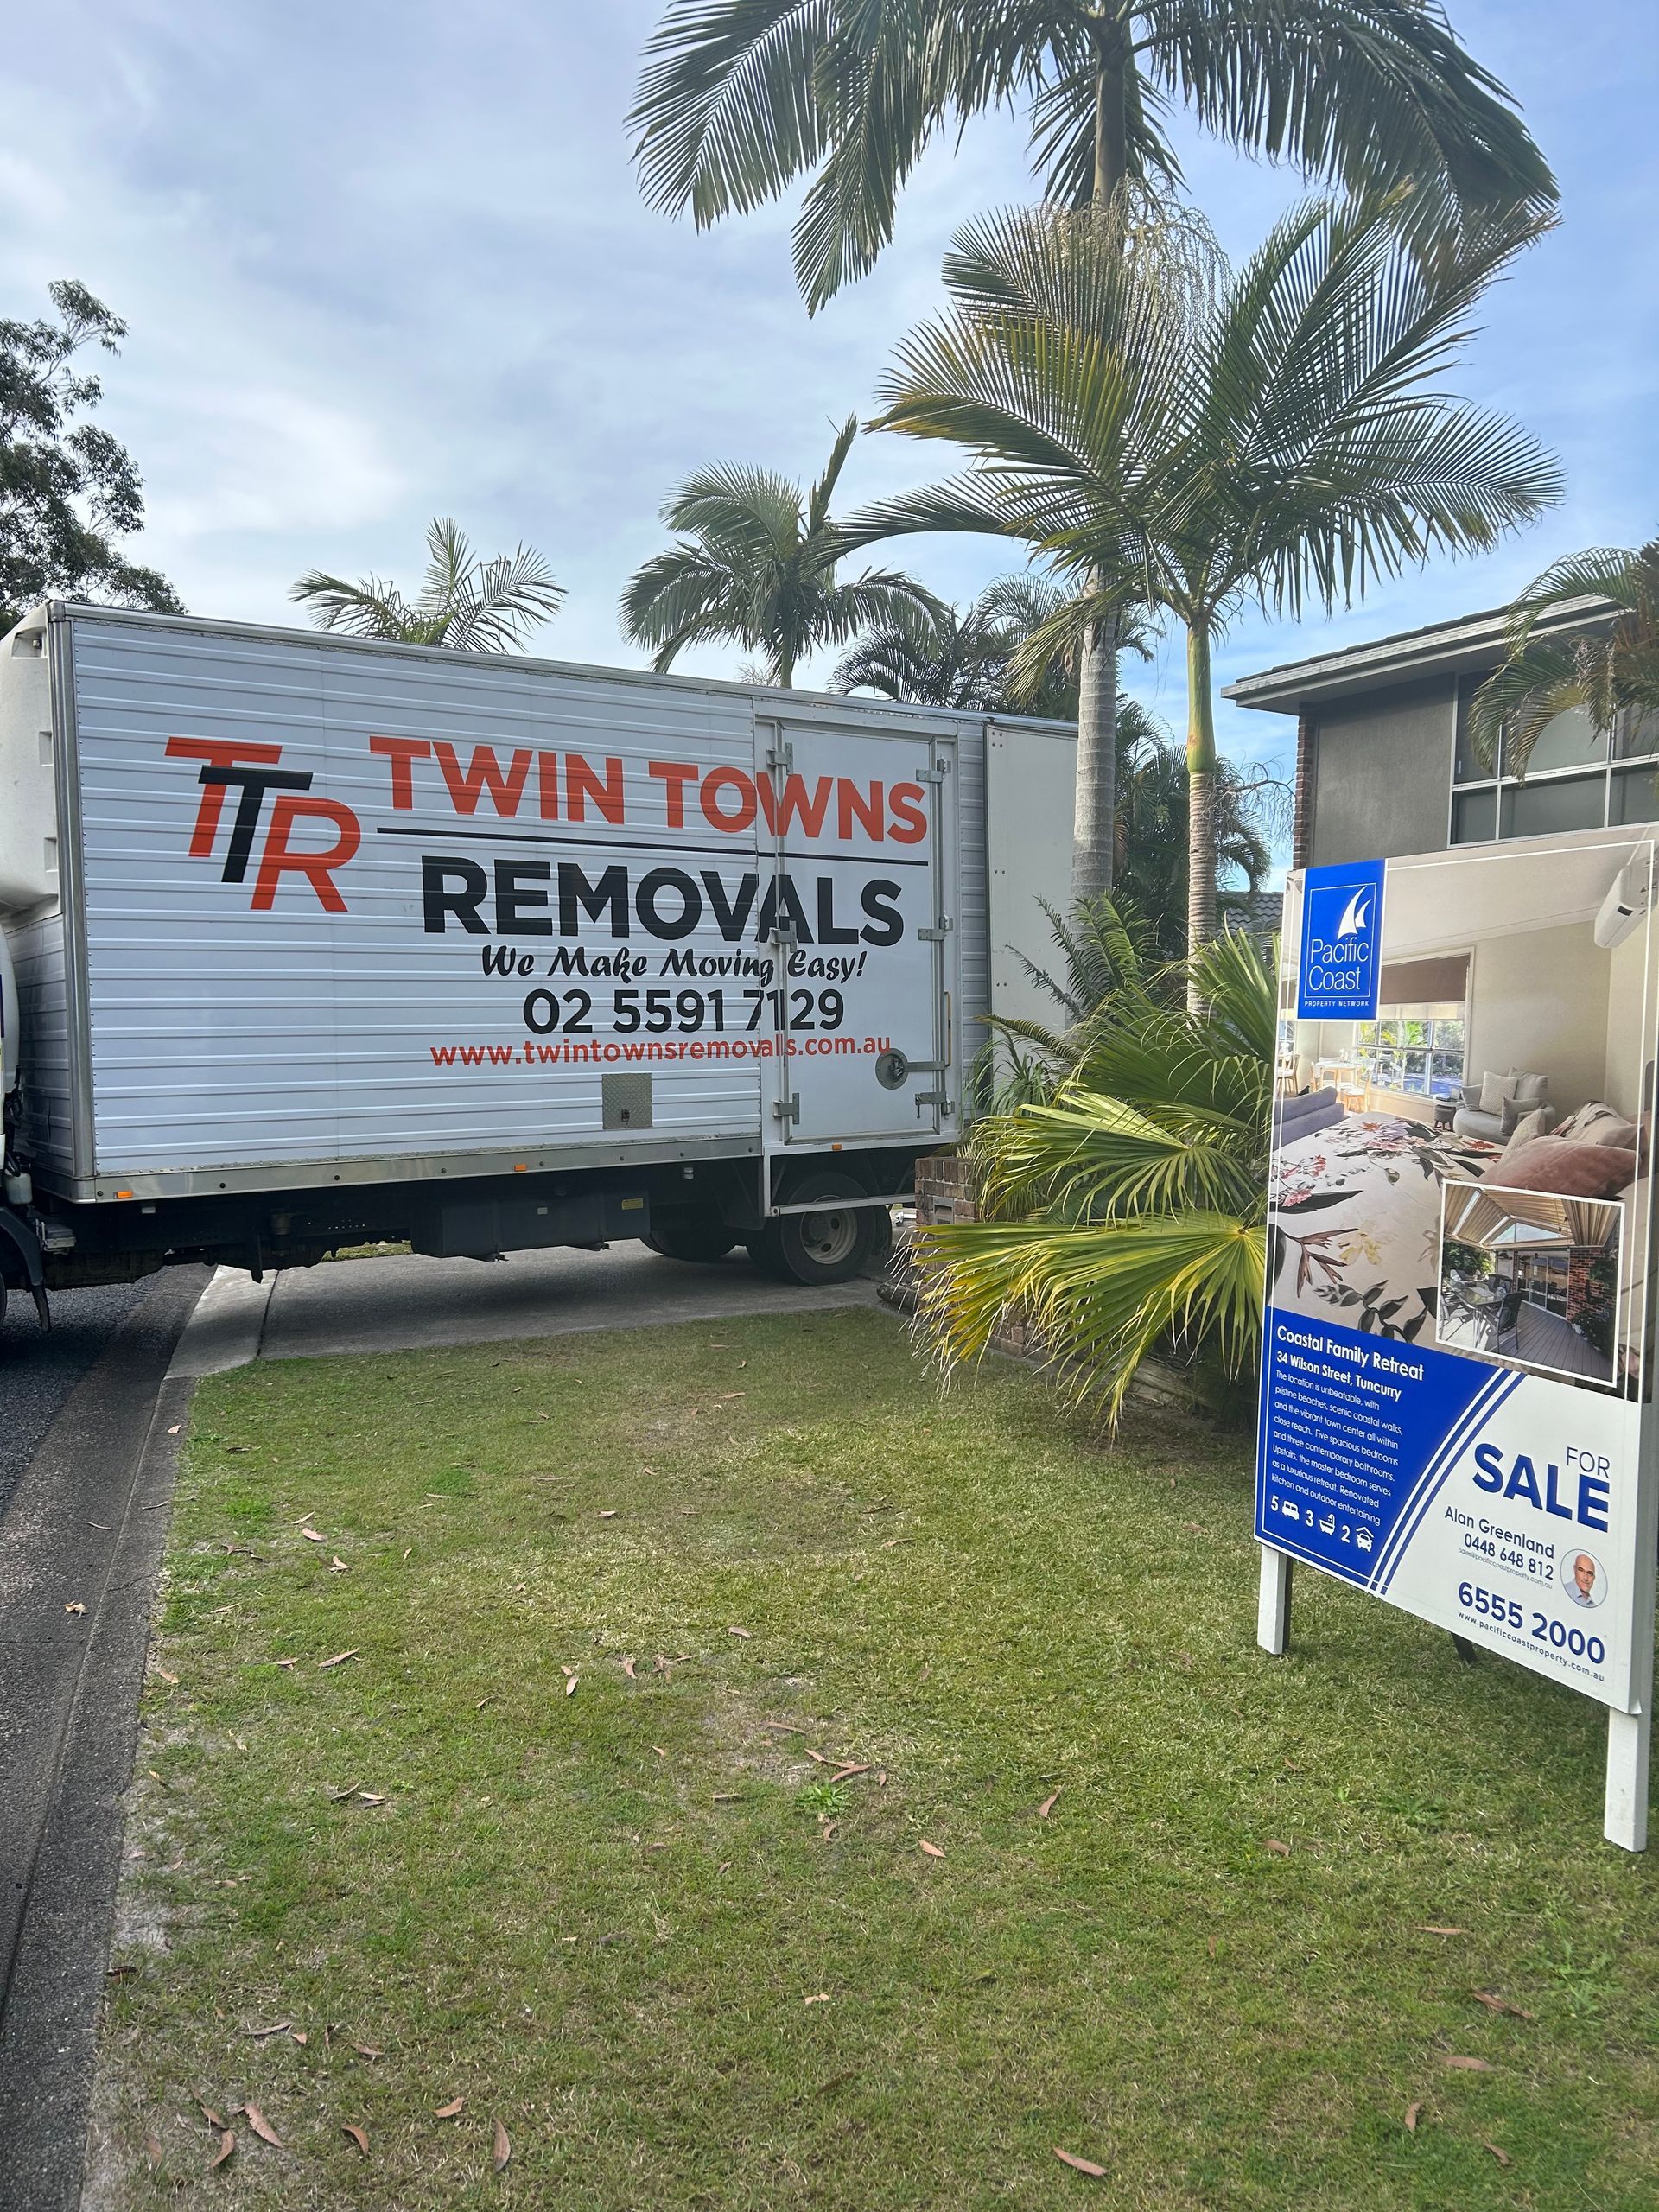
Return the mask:
POLYGON ((1256 1458, 1301 1559, 1601 1701, 1652 1697, 1655 834, 1292 876, 1256 1458))

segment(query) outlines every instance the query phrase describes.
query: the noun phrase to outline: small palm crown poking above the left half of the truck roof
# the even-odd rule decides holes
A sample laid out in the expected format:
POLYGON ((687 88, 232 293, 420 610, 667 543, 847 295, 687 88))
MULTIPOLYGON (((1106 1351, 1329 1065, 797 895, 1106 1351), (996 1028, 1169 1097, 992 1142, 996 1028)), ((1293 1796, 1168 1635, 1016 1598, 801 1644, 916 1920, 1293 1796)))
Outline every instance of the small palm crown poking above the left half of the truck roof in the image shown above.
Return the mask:
POLYGON ((564 599, 535 546, 473 555, 458 522, 427 526, 427 575, 418 599, 405 599, 378 575, 345 577, 307 571, 288 597, 307 606, 323 630, 385 637, 403 646, 449 646, 456 653, 511 653, 549 622, 564 599))

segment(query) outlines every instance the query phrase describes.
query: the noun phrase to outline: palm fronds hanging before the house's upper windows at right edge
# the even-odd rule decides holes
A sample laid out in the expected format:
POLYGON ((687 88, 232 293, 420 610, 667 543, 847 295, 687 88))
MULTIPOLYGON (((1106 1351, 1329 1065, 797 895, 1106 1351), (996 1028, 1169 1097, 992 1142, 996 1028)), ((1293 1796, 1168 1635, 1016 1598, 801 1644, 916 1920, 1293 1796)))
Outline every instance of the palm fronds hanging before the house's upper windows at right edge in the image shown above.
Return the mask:
POLYGON ((1469 734, 1486 768, 1502 734, 1504 770, 1524 776, 1544 726, 1575 706, 1597 737, 1621 717, 1659 714, 1659 538, 1635 551, 1573 553, 1526 586, 1509 611, 1506 657, 1475 692, 1469 734), (1610 619, 1571 637, 1551 635, 1575 613, 1610 619))

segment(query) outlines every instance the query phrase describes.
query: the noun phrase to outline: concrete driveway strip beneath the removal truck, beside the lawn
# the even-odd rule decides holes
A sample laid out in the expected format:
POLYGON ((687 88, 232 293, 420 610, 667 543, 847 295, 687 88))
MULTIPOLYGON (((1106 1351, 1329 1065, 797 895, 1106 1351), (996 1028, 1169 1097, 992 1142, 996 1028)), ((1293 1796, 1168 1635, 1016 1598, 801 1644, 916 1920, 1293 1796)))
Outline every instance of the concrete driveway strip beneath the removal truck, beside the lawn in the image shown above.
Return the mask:
POLYGON ((513 1252, 500 1261, 343 1259, 294 1267, 263 1283, 221 1267, 184 1334, 173 1374, 221 1374, 252 1358, 422 1352, 513 1336, 874 1303, 874 1276, 801 1290, 768 1281, 741 1250, 692 1265, 659 1259, 637 1243, 608 1252, 513 1252))

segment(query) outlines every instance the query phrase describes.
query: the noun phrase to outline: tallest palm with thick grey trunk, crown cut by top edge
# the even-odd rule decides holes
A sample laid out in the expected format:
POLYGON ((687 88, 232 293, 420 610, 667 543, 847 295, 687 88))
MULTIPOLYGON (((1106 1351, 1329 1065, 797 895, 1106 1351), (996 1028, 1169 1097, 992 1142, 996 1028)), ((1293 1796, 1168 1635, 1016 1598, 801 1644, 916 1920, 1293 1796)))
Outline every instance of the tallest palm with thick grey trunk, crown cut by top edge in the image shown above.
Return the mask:
MULTIPOLYGON (((708 228, 814 175, 794 228, 810 310, 872 268, 940 135, 1024 108, 1044 195, 1144 206, 1179 184, 1175 104, 1349 192, 1418 184, 1427 230, 1555 179, 1502 84, 1420 0, 668 0, 630 124, 639 181, 708 228)), ((1110 878, 1117 639, 1110 573, 1082 637, 1073 896, 1110 878)))

